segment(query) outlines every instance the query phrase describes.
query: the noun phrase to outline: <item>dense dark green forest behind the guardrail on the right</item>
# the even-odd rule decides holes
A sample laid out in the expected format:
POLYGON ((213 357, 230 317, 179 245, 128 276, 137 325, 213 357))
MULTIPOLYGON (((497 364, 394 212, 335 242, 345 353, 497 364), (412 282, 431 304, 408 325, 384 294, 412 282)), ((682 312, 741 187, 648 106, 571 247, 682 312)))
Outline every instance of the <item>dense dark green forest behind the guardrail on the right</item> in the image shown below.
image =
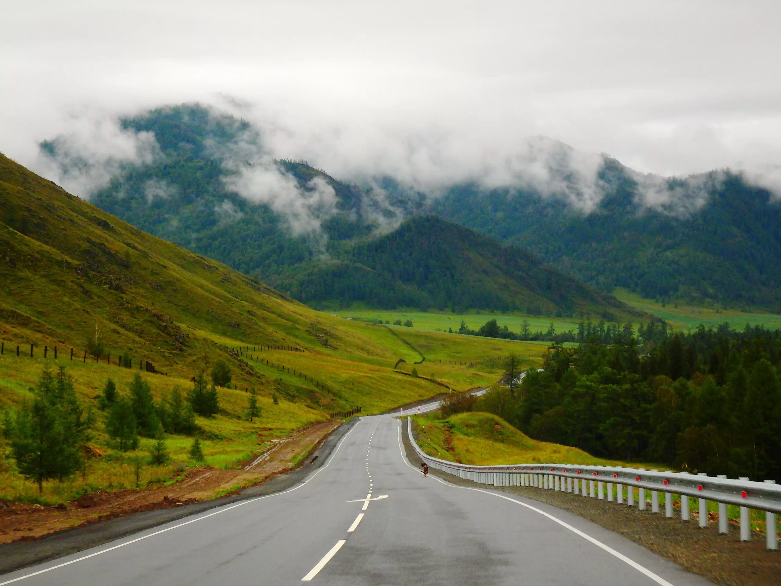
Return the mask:
POLYGON ((652 336, 555 344, 544 371, 473 409, 596 456, 781 480, 781 332, 724 324, 652 336))

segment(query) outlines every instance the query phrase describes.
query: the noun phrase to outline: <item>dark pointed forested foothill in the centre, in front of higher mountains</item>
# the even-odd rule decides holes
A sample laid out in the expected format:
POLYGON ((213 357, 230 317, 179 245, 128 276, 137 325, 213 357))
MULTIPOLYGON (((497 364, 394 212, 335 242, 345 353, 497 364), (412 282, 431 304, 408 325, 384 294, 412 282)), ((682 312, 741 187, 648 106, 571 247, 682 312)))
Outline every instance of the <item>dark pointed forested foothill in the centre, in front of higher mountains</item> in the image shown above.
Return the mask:
POLYGON ((559 316, 577 311, 609 320, 642 315, 532 255, 436 216, 407 220, 389 234, 344 251, 337 262, 291 270, 273 284, 315 304, 359 301, 559 316))

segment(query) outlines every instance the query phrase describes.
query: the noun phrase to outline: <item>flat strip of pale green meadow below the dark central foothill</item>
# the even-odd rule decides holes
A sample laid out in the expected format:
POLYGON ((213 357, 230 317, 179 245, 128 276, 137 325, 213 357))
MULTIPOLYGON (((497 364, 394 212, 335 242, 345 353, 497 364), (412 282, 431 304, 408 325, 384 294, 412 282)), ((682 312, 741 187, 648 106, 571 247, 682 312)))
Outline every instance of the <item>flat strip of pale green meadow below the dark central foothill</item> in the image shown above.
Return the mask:
MULTIPOLYGON (((448 329, 452 329, 454 332, 458 331, 462 320, 467 326, 473 330, 477 330, 486 323, 488 320, 497 320, 497 323, 501 326, 507 326, 510 331, 514 331, 516 334, 522 331, 522 323, 524 320, 529 322, 531 331, 547 331, 553 323, 556 331, 561 333, 565 331, 575 330, 577 331, 578 323, 575 319, 559 318, 559 317, 540 317, 530 316, 524 313, 494 313, 490 311, 482 311, 480 309, 469 310, 465 313, 451 313, 448 311, 415 311, 406 309, 338 309, 332 311, 334 315, 346 318, 352 318, 353 320, 385 320, 390 321, 391 324, 396 320, 401 320, 402 323, 406 320, 412 320, 412 326, 416 330, 423 331, 443 331, 447 332, 448 329)), ((407 328, 405 328, 407 329, 407 328)), ((536 344, 547 344, 547 342, 530 342, 536 344)))

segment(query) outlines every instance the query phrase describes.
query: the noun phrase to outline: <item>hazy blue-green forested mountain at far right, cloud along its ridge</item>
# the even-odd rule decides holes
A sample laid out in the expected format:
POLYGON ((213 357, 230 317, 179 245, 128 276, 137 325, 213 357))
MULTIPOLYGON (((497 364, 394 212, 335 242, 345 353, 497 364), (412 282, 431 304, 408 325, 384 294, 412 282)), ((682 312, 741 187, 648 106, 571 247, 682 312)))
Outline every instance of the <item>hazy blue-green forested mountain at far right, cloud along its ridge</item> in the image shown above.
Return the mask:
POLYGON ((651 206, 636 178, 605 159, 604 198, 590 213, 535 191, 476 185, 451 188, 433 209, 601 291, 624 287, 647 298, 781 312, 778 199, 740 175, 715 172, 664 180, 674 195, 651 206))

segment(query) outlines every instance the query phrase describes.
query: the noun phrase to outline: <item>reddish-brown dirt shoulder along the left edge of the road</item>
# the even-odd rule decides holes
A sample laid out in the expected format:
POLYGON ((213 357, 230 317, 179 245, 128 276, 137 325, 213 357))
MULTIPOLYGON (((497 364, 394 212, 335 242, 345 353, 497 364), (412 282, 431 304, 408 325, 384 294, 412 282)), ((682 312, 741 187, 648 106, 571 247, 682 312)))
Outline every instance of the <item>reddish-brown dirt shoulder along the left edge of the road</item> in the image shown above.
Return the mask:
POLYGON ((241 470, 199 466, 168 487, 144 491, 97 492, 62 509, 8 503, 0 509, 0 573, 66 556, 161 523, 244 498, 285 490, 327 459, 352 427, 330 420, 277 442, 241 470), (339 427, 341 425, 341 427, 339 427), (293 470, 291 460, 307 448, 293 470), (314 456, 317 459, 312 462, 314 456), (221 498, 215 498, 216 496, 221 498))

